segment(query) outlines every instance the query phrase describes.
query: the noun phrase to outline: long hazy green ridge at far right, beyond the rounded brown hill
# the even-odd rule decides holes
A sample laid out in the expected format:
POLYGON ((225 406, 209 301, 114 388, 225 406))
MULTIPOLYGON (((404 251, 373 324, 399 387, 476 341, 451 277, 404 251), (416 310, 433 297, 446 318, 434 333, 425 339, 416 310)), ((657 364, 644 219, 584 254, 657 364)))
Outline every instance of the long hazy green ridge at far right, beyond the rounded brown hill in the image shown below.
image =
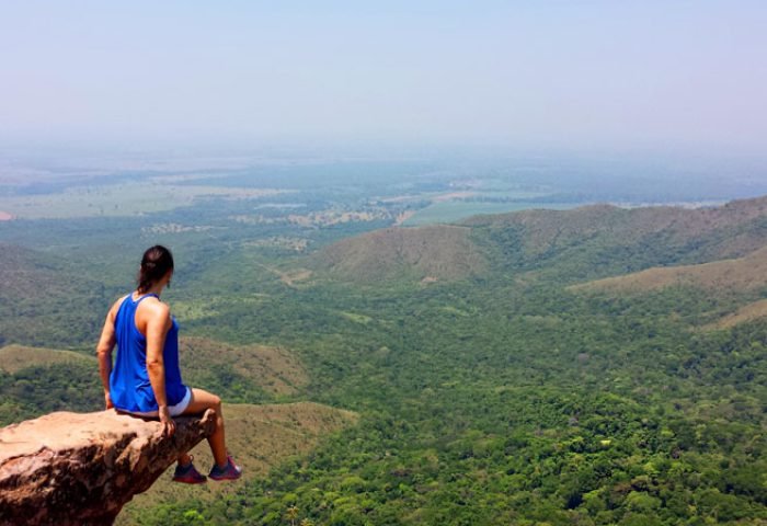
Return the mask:
POLYGON ((574 283, 652 266, 742 258, 767 245, 767 197, 713 208, 595 205, 478 216, 463 222, 495 266, 574 283))

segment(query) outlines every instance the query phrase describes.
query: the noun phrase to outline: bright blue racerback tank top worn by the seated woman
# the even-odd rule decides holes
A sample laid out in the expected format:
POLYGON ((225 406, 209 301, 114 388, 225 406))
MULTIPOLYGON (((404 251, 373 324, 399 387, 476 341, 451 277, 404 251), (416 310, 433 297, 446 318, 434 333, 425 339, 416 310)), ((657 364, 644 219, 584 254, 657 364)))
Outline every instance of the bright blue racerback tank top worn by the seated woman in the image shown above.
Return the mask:
MULTIPOLYGON (((110 396, 114 407, 122 411, 144 413, 158 410, 147 371, 147 338, 136 328, 136 309, 150 296, 158 298, 154 294, 147 294, 134 300, 133 294, 129 295, 115 317, 117 357, 110 375, 110 396)), ((175 318, 165 336, 162 361, 168 405, 175 405, 186 395, 179 366, 179 323, 175 318)))

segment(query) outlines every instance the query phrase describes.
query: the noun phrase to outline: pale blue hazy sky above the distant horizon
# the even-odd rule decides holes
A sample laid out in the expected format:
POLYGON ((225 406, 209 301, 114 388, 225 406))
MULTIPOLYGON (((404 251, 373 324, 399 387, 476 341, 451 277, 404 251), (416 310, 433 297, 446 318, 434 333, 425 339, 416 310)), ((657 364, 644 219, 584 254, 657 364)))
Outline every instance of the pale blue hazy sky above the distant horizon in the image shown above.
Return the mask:
POLYGON ((767 150, 767 1, 0 0, 0 139, 767 150))

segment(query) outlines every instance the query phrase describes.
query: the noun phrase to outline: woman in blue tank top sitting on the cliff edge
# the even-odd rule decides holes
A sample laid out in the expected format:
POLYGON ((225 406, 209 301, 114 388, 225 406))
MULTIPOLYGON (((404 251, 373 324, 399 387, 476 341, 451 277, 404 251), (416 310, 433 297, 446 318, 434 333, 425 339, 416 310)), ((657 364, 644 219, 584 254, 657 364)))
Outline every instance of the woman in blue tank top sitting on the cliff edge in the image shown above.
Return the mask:
MULTIPOLYGON (((202 389, 186 387, 179 367, 179 324, 168 305, 160 301, 173 276, 173 255, 164 247, 148 249, 141 259, 136 291, 118 299, 110 309, 96 352, 104 384, 106 409, 138 416, 159 416, 164 436, 175 432, 173 416, 216 411, 216 430, 208 437, 215 465, 214 480, 239 479, 242 470, 227 454, 221 399, 202 389), (112 367, 112 350, 117 356, 112 367)), ((179 457, 173 480, 205 482, 192 457, 179 457)))

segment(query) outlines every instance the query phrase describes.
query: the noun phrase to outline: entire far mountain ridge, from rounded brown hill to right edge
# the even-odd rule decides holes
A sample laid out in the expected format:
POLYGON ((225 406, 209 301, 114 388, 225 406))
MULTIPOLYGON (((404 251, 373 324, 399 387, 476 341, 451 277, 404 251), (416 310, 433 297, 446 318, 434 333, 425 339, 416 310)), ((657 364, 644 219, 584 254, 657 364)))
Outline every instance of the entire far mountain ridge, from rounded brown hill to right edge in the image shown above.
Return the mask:
POLYGON ((598 204, 376 230, 322 249, 313 255, 313 267, 353 283, 530 271, 577 283, 653 266, 736 259, 765 245, 767 196, 692 209, 598 204))

